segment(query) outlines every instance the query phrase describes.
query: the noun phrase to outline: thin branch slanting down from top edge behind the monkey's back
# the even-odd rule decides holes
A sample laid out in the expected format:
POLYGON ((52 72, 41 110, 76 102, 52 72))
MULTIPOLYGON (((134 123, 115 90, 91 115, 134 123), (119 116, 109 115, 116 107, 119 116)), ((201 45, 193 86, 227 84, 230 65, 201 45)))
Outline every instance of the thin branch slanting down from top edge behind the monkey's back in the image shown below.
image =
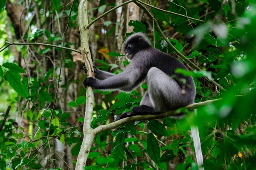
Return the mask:
MULTIPOLYGON (((175 48, 174 45, 172 45, 172 43, 168 40, 168 38, 165 36, 165 34, 163 33, 163 31, 161 30, 157 20, 154 18, 154 16, 148 11, 147 8, 145 8, 145 6, 143 6, 141 3, 139 3, 137 0, 134 1, 134 3, 136 3, 137 6, 139 6, 143 11, 145 11, 145 13, 148 15, 148 17, 150 17, 151 20, 154 20, 154 24, 157 28, 157 31, 161 34, 161 36, 163 37, 163 39, 167 42, 168 45, 170 45, 172 47, 172 49, 174 49, 174 51, 178 54, 177 56, 182 59, 184 62, 186 62, 187 65, 189 65, 191 68, 194 68, 195 70, 198 71, 202 71, 197 65, 195 65, 192 61, 190 61, 188 58, 186 58, 183 54, 180 53, 180 51, 177 50, 177 48, 175 48)), ((221 85, 219 85, 217 82, 215 82, 212 78, 208 78, 205 77, 206 79, 208 79, 210 82, 212 82, 214 85, 216 85, 218 88, 226 91, 221 85)))

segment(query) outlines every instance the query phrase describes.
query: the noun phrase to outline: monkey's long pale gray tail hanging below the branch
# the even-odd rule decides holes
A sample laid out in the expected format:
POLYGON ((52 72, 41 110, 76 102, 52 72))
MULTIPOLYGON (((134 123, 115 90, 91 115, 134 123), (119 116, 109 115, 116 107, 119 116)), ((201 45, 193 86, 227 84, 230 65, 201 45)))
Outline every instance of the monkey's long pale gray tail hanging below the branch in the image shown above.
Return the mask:
POLYGON ((198 162, 198 170, 204 170, 204 160, 203 160, 201 142, 200 142, 199 131, 197 126, 191 126, 191 135, 194 141, 195 157, 198 162))

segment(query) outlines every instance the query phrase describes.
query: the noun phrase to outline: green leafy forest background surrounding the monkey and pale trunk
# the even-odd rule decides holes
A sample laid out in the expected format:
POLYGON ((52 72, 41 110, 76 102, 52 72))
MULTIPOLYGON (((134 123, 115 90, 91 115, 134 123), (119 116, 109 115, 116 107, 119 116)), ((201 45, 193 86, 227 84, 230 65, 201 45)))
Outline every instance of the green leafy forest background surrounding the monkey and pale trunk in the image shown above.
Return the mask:
POLYGON ((255 4, 0 0, 0 169, 196 170, 189 125, 199 127, 205 169, 256 169, 255 4), (147 85, 84 89, 85 63, 88 76, 92 65, 124 70, 122 43, 134 32, 184 62, 189 71, 176 71, 194 78, 194 105, 113 122, 147 85), (195 108, 190 121, 168 117, 195 108))

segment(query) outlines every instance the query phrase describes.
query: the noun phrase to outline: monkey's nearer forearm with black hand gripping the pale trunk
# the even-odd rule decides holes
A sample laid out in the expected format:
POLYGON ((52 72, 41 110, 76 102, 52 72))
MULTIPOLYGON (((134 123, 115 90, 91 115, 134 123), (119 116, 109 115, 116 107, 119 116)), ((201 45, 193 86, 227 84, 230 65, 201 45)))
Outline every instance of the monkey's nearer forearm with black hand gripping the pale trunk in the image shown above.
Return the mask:
POLYGON ((143 81, 142 74, 139 68, 126 69, 120 74, 108 77, 107 79, 97 81, 93 77, 88 77, 84 80, 83 85, 91 86, 99 90, 122 90, 131 91, 141 81, 143 81))

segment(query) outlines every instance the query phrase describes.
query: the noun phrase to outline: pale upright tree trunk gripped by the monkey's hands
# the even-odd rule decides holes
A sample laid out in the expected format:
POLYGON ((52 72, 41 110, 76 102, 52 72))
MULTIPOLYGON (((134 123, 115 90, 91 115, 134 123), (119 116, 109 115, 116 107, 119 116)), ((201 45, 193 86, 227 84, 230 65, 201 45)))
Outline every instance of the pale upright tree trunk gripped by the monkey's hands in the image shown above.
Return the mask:
MULTIPOLYGON (((79 3, 78 24, 81 34, 81 53, 87 68, 87 77, 94 77, 93 63, 89 49, 90 28, 88 26, 87 3, 87 0, 81 0, 81 2, 79 3)), ((85 167, 87 157, 90 152, 90 147, 95 137, 94 130, 90 127, 93 113, 93 102, 93 88, 87 86, 83 129, 84 138, 79 155, 77 157, 76 170, 82 170, 83 167, 85 167)))

